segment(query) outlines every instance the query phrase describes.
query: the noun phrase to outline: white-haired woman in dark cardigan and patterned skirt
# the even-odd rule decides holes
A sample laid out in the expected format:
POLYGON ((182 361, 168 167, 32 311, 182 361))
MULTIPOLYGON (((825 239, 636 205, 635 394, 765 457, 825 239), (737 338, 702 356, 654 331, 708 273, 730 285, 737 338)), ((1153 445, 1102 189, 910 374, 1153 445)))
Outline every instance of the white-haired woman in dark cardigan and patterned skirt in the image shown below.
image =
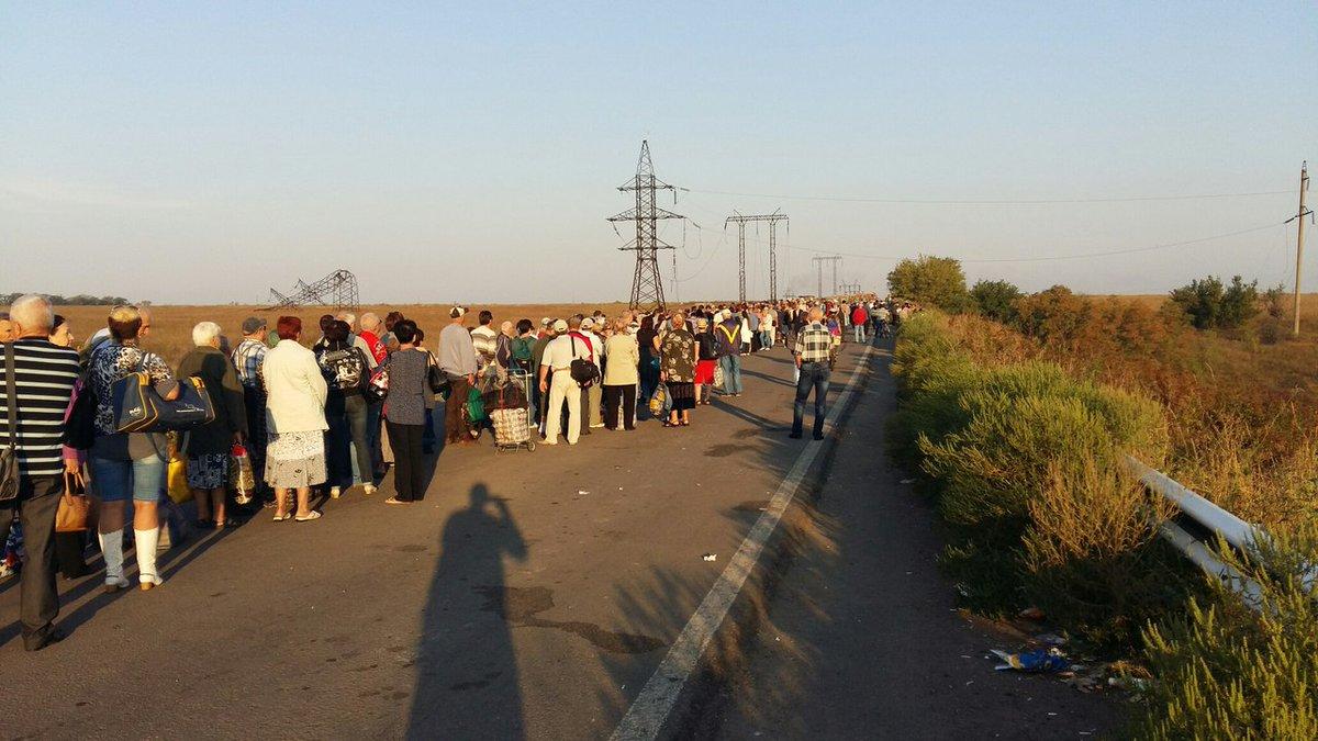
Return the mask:
POLYGON ((237 525, 237 521, 225 517, 224 487, 229 473, 229 448, 246 436, 246 405, 239 372, 220 349, 220 326, 202 322, 192 327, 192 344, 196 347, 183 356, 178 374, 202 378, 215 406, 215 419, 183 436, 187 485, 196 502, 196 526, 223 530, 237 525))

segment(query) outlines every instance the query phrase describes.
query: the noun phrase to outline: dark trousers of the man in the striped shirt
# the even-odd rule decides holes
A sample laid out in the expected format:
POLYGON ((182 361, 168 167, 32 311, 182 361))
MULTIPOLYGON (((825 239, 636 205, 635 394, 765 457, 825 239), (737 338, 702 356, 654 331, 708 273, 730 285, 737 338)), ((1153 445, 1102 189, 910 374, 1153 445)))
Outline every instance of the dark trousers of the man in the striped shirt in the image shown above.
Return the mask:
POLYGON ((59 592, 55 589, 55 510, 65 493, 65 477, 22 476, 18 497, 0 504, 0 545, 9 538, 14 509, 22 522, 22 542, 28 562, 22 564, 18 596, 18 618, 22 622, 22 645, 41 646, 54 629, 59 614, 59 592))

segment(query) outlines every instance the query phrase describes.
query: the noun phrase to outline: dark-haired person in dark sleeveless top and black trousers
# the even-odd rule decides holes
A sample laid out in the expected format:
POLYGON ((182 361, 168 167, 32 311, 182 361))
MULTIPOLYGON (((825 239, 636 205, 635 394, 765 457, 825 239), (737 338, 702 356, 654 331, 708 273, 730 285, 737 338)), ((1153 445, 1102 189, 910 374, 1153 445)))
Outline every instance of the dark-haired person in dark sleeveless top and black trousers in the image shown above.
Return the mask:
POLYGON ((426 496, 426 458, 422 435, 426 417, 435 406, 427 376, 431 355, 416 347, 416 323, 403 319, 394 324, 398 352, 386 360, 389 365, 389 398, 385 425, 389 442, 394 447, 394 496, 385 504, 411 504, 426 496))

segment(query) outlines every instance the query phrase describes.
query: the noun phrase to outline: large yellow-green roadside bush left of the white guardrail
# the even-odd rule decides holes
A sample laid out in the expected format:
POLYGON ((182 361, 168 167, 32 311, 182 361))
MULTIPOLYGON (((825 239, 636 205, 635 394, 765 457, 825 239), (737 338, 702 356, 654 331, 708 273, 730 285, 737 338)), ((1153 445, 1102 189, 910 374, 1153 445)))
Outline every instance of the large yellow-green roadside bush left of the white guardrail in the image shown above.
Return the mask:
POLYGON ((890 440, 928 476, 949 525, 942 564, 970 604, 1003 612, 1029 600, 1101 647, 1131 642, 1166 591, 1131 578, 1157 558, 1155 529, 1148 498, 1110 472, 1126 451, 1161 460, 1157 405, 1049 363, 979 363, 937 312, 903 324, 894 373, 890 440))

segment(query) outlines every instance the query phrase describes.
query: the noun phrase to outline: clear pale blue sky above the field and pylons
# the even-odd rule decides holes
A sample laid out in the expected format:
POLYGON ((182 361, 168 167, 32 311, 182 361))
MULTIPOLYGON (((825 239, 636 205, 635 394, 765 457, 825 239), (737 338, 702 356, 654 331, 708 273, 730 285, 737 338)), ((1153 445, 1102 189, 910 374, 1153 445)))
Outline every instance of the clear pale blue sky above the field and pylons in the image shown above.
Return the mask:
POLYGON ((1311 1, 0 0, 0 293, 260 303, 347 268, 373 303, 626 301, 605 219, 642 140, 685 189, 670 299, 737 297, 734 210, 789 216, 780 293, 818 254, 879 291, 921 253, 1289 285, 1315 42, 1311 1))

